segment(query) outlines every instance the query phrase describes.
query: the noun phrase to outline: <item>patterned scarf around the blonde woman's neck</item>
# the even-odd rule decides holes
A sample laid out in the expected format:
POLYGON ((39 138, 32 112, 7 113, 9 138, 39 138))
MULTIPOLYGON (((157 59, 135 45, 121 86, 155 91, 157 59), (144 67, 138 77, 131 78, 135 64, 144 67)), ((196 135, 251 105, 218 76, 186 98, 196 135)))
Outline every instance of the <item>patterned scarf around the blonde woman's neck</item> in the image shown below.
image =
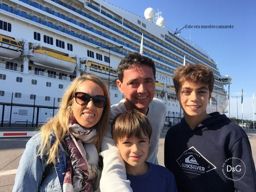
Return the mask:
POLYGON ((101 175, 101 169, 89 164, 90 156, 87 154, 83 143, 92 143, 96 137, 96 129, 83 128, 74 118, 70 118, 70 135, 65 139, 68 154, 66 161, 66 174, 63 182, 63 192, 90 192, 98 187, 99 183, 93 183, 97 176, 101 175))

